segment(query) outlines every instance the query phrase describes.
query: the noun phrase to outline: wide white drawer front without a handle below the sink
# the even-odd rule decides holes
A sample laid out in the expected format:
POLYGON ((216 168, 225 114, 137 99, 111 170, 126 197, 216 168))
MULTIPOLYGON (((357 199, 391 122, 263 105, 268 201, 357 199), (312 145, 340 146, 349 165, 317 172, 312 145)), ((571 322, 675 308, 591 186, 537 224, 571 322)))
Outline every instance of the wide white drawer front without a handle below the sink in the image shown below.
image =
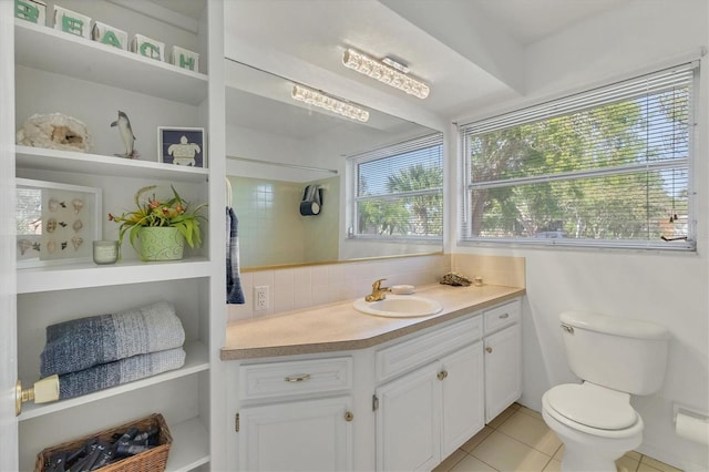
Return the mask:
POLYGON ((469 345, 482 337, 483 321, 474 316, 377 352, 377 380, 384 381, 469 345))

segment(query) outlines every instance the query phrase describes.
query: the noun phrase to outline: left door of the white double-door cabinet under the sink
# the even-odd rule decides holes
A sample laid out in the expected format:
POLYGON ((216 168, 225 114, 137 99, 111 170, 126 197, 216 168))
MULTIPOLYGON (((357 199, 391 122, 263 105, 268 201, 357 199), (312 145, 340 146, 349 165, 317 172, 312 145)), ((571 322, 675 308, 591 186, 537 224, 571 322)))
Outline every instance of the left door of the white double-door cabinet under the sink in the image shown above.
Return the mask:
POLYGON ((440 363, 377 389, 377 470, 431 470, 441 461, 440 363))

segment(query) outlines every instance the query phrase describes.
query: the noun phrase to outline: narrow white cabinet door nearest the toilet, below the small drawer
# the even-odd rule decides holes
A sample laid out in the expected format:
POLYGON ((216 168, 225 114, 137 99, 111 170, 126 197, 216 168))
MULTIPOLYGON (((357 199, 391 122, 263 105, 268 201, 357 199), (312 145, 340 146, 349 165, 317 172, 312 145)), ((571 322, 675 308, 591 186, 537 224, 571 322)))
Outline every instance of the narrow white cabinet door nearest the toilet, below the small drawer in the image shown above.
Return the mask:
POLYGON ((484 342, 485 422, 489 423, 522 396, 520 325, 489 336, 484 342))

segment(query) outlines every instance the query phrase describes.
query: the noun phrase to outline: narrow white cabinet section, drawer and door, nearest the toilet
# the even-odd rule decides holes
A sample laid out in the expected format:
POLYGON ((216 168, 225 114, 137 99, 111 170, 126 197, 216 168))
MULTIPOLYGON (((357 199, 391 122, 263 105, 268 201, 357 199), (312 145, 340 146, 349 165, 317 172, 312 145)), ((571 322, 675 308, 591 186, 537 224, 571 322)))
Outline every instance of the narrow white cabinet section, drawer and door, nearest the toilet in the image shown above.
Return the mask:
POLYGON ((485 324, 485 423, 522 396, 521 301, 483 312, 485 324))

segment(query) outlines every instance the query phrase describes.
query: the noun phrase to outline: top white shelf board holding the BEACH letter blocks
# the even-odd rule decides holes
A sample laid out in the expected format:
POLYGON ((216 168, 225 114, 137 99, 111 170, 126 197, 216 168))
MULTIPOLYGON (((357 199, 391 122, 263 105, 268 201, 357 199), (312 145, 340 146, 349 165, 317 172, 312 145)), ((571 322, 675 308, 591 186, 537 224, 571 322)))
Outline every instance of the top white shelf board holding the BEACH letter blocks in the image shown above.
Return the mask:
POLYGON ((19 65, 198 105, 207 98, 207 75, 144 58, 74 34, 14 20, 19 65))

